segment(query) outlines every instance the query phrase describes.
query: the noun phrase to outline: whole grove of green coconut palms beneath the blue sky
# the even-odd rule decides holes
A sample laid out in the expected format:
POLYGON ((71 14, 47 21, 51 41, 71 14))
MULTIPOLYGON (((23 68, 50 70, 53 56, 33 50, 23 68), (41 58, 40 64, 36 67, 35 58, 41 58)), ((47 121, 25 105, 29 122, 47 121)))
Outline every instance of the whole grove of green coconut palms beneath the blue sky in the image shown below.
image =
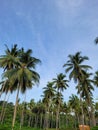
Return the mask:
MULTIPOLYGON (((95 40, 96 44, 98 39, 95 40)), ((68 56, 63 65, 65 73, 60 73, 52 81, 47 82, 43 88, 42 100, 35 102, 31 99, 26 102, 26 91, 39 83, 40 76, 36 72, 36 65, 41 61, 32 56, 32 50, 18 49, 13 45, 11 49, 6 46, 5 54, 0 56, 0 67, 3 68, 0 98, 17 91, 15 105, 8 101, 0 101, 1 124, 36 128, 77 128, 79 124, 89 124, 91 127, 98 121, 98 103, 93 102, 94 87, 98 87, 98 71, 91 73, 92 67, 85 65, 89 60, 81 52, 68 56), (69 80, 66 79, 68 74, 69 80), (93 78, 91 78, 93 77, 93 78), (77 95, 70 95, 69 101, 63 100, 69 86, 74 80, 77 95), (20 103, 19 93, 24 94, 24 102, 20 103)), ((73 88, 72 88, 73 89, 73 88)), ((8 96, 7 96, 8 95, 8 96)), ((31 97, 33 98, 33 97, 31 97)))

